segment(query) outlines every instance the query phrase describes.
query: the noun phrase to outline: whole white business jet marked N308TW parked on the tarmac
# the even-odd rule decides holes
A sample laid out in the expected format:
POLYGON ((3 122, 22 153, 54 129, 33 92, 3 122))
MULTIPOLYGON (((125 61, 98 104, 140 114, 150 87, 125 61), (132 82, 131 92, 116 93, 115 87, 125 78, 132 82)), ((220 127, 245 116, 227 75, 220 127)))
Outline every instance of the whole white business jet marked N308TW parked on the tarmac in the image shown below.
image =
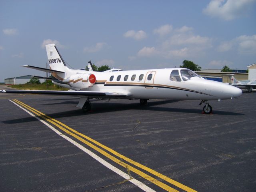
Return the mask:
POLYGON ((66 66, 55 44, 46 45, 50 69, 25 65, 51 73, 52 82, 69 91, 2 90, 4 93, 34 93, 78 96, 77 107, 87 112, 91 98, 140 99, 146 104, 149 99, 201 100, 204 113, 210 114, 209 100, 237 98, 242 91, 234 86, 206 80, 186 68, 95 72, 73 70, 66 66))

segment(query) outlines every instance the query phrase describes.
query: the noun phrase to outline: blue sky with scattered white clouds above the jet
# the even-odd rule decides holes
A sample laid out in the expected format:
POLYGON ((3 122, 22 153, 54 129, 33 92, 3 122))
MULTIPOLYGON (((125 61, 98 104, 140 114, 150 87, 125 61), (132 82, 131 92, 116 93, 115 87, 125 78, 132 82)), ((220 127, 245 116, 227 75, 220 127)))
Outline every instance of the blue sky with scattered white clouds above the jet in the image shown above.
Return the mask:
POLYGON ((74 69, 244 69, 256 63, 256 0, 1 0, 0 82, 43 72, 45 45, 74 69))

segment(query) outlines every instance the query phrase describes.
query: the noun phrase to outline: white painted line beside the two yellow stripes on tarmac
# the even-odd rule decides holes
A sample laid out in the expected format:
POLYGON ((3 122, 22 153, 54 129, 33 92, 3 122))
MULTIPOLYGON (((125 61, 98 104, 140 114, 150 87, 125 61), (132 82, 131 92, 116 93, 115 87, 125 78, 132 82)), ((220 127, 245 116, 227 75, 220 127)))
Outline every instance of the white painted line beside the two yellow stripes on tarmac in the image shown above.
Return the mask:
POLYGON ((142 190, 146 191, 146 192, 156 192, 155 190, 153 190, 152 188, 146 186, 145 184, 143 184, 142 182, 132 178, 130 175, 126 174, 125 172, 121 171, 120 169, 116 168, 115 166, 111 165, 110 163, 106 162, 104 159, 100 158, 98 155, 94 154, 93 152, 91 152, 90 150, 88 150, 87 148, 85 148, 84 146, 80 145, 79 143, 77 143, 76 141, 70 139, 68 136, 62 134, 61 132, 59 132, 58 130, 56 130, 53 126, 51 126, 50 124, 48 124, 47 122, 45 122, 44 120, 38 118, 37 116, 35 116, 34 114, 32 114, 31 112, 29 112, 28 110, 26 110, 25 108, 23 108, 22 106, 16 104, 15 102, 13 102, 12 100, 9 100, 10 102, 14 103, 16 106, 18 106, 19 108, 23 109, 24 111, 26 111, 28 114, 30 114, 32 117, 36 118, 37 120, 39 120, 40 122, 42 122, 43 124, 45 124, 46 126, 48 126, 51 130, 53 130, 54 132, 56 132, 59 136, 62 136, 64 139, 68 140, 70 143, 74 144, 75 146, 77 146, 78 148, 80 148, 81 150, 83 150, 84 152, 86 152, 88 155, 90 155, 92 158, 94 158, 95 160, 97 160, 98 162, 100 162, 101 164, 103 164, 104 166, 106 166, 107 168, 109 168, 110 170, 114 171, 115 173, 117 173, 118 175, 122 176, 123 178, 125 178, 126 180, 130 181, 131 183, 133 183, 134 185, 138 186, 139 188, 141 188, 142 190))

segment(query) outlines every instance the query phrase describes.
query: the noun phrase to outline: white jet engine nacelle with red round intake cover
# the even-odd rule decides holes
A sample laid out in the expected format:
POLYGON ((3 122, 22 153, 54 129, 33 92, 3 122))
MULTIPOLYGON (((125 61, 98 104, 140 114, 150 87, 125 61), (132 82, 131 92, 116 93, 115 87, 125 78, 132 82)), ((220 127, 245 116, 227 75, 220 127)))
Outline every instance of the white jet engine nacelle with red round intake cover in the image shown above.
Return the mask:
POLYGON ((94 74, 76 74, 69 78, 69 84, 76 89, 84 89, 92 87, 96 82, 96 77, 94 74))

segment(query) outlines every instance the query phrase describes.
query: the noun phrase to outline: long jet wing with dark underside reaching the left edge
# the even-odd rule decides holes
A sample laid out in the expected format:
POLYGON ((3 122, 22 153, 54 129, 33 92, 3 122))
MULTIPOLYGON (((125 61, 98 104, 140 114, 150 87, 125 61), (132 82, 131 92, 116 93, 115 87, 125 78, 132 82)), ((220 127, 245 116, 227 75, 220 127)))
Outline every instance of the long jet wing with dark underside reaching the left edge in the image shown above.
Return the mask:
POLYGON ((46 91, 46 90, 0 90, 2 93, 17 94, 47 94, 58 96, 88 96, 91 98, 125 98, 127 94, 118 92, 95 92, 95 91, 46 91))

